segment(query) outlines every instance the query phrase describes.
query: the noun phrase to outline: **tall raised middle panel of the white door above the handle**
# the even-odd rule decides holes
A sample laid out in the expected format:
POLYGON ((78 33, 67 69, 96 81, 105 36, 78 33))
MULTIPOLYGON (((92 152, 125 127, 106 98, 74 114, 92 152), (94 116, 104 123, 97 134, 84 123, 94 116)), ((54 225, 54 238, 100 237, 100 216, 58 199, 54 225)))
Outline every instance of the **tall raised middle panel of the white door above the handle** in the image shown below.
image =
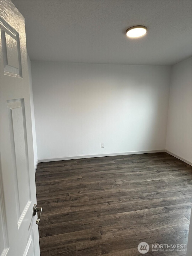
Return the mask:
POLYGON ((8 101, 7 107, 12 147, 12 161, 15 166, 14 186, 17 225, 19 228, 31 204, 24 101, 23 99, 8 101))

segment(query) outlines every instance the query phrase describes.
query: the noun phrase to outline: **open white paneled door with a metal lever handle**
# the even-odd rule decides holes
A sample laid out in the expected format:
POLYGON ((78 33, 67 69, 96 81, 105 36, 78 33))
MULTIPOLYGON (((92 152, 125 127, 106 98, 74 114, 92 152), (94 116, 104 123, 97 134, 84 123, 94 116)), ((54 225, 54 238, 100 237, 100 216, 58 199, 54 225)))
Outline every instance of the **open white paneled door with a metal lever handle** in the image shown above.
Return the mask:
POLYGON ((40 255, 25 21, 0 1, 0 255, 40 255))

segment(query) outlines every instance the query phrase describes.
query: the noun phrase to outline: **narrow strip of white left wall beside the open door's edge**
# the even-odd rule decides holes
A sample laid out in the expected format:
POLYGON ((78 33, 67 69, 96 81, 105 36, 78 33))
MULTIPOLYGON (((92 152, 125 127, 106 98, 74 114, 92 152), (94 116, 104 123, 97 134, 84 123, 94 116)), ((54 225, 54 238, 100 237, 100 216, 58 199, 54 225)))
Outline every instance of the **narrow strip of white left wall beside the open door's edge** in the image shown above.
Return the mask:
POLYGON ((34 104, 33 104, 31 61, 30 61, 28 55, 27 55, 27 65, 28 65, 28 73, 29 73, 29 90, 30 90, 30 103, 31 103, 31 116, 32 116, 34 164, 35 164, 35 169, 36 169, 37 163, 38 163, 38 157, 37 157, 37 143, 36 143, 36 132, 35 132, 35 115, 34 115, 34 104))

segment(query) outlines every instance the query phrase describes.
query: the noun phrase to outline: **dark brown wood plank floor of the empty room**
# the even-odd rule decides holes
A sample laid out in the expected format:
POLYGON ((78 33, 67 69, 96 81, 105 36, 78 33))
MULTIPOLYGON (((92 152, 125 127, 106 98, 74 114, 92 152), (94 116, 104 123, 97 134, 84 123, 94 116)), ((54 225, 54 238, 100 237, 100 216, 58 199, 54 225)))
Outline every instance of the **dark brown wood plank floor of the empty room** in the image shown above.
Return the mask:
POLYGON ((39 163, 36 190, 41 256, 185 255, 152 251, 187 244, 191 166, 167 153, 39 163))

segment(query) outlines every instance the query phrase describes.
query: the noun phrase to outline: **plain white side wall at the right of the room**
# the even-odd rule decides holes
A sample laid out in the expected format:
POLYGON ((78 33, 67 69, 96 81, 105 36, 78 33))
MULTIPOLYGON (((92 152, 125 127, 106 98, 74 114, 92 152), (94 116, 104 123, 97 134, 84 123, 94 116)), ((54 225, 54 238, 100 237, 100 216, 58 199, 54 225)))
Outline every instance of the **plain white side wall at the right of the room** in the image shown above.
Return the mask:
POLYGON ((172 67, 166 150, 192 162, 191 58, 172 67))

